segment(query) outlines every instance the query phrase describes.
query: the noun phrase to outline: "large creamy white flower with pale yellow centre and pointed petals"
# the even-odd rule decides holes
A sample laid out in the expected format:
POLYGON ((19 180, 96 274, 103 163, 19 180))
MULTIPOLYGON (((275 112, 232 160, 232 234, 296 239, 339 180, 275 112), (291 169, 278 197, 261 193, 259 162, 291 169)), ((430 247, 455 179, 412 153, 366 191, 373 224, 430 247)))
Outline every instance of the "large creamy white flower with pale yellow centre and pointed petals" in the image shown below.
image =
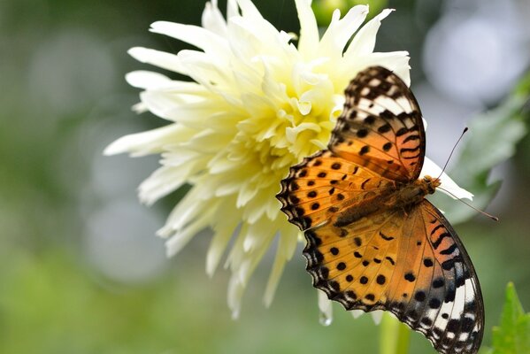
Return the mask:
POLYGON ((161 166, 139 188, 145 204, 182 185, 192 186, 158 235, 167 238, 172 256, 199 231, 211 228, 209 275, 233 240, 226 266, 232 272, 227 300, 234 318, 251 274, 277 238, 264 297, 267 305, 273 300, 283 268, 302 239, 274 196, 290 165, 326 148, 349 80, 366 66, 384 65, 410 81, 406 51, 373 52, 380 21, 390 10, 363 27, 367 6, 351 8, 342 19, 335 11, 319 38, 311 1, 296 0, 296 9, 297 46, 296 35, 274 28, 250 0, 228 0, 227 20, 212 0, 202 27, 153 23, 151 32, 199 50, 175 55, 133 48, 129 53, 192 81, 128 73, 127 81, 143 90, 134 110, 150 111, 169 124, 121 137, 104 151, 161 155, 161 166))

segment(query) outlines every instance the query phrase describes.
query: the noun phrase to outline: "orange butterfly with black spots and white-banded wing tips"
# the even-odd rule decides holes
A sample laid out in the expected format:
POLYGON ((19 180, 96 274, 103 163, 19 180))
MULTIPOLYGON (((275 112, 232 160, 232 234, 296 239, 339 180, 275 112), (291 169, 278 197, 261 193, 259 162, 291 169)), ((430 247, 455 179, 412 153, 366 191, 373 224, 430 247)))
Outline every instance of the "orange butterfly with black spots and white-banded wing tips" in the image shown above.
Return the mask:
POLYGON ((426 134, 407 85, 381 66, 357 74, 327 150, 290 168, 276 196, 304 231, 313 286, 347 310, 385 310, 440 353, 477 353, 484 305, 457 233, 419 179, 426 134))

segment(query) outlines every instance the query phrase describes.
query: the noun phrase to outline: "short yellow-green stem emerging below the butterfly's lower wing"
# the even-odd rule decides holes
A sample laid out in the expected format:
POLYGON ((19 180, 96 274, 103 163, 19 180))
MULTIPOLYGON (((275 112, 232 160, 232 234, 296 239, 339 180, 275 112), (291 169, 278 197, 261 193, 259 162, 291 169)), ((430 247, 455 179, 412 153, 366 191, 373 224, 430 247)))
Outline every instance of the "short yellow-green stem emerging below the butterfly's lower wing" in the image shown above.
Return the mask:
POLYGON ((407 354, 411 330, 387 312, 380 324, 380 354, 407 354))

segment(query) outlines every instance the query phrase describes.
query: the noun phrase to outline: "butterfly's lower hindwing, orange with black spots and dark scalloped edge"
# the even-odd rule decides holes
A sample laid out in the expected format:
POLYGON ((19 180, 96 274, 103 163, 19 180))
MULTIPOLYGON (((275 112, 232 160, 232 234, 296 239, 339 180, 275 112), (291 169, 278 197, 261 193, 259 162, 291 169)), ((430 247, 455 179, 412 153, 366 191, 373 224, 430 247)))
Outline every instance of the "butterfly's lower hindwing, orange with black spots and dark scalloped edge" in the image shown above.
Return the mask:
POLYGON ((379 212, 345 227, 330 223, 307 230, 303 256, 313 285, 347 310, 382 309, 397 260, 391 235, 401 227, 396 212, 379 212))

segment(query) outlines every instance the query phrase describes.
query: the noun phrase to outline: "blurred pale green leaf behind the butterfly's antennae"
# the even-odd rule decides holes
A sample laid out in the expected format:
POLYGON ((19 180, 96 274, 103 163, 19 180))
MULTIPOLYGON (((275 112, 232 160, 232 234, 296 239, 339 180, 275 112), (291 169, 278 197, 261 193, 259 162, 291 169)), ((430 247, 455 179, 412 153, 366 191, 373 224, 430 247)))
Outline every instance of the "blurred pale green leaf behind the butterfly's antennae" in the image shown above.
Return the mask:
MULTIPOLYGON (((517 143, 526 135, 525 105, 530 95, 530 73, 494 110, 481 113, 469 124, 463 148, 449 175, 458 185, 474 194, 472 204, 485 209, 501 187, 501 181, 489 181, 491 169, 511 158, 517 143)), ((434 204, 446 213, 452 223, 471 219, 477 212, 463 203, 437 193, 434 204)))

